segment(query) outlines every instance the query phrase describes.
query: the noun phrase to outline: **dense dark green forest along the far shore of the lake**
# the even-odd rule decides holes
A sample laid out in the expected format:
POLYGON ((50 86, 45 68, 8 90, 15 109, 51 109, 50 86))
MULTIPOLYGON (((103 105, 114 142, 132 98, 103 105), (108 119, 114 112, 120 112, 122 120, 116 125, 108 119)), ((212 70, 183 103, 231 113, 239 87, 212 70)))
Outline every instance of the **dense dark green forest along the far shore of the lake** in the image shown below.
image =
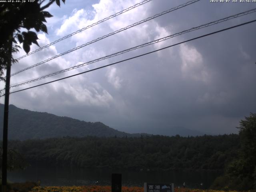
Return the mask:
POLYGON ((240 148, 236 134, 49 138, 10 141, 8 146, 37 166, 86 168, 223 170, 240 148))

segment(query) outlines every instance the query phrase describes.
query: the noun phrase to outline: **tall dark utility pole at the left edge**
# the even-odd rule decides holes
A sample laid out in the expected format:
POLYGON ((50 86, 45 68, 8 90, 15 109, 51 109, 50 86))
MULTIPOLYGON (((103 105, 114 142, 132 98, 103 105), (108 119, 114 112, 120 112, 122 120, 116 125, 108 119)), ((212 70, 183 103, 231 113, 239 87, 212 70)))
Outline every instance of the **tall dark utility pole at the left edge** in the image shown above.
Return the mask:
POLYGON ((9 58, 6 69, 6 83, 4 96, 4 126, 3 126, 3 155, 2 155, 2 186, 1 192, 6 192, 7 185, 7 142, 8 142, 8 114, 9 114, 9 93, 10 93, 10 74, 12 64, 12 38, 10 38, 9 58))

